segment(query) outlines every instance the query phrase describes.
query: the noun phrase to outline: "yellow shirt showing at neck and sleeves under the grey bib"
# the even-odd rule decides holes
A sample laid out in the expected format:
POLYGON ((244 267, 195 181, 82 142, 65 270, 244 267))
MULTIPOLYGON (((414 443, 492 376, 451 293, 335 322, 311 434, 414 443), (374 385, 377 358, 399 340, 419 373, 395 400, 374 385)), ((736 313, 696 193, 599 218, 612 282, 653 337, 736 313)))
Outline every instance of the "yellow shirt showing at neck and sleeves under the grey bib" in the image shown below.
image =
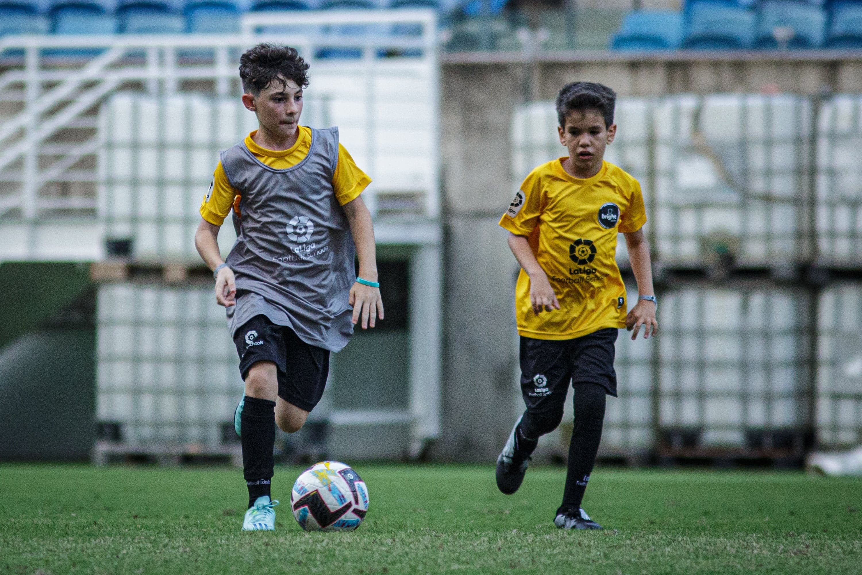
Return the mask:
MULTIPOLYGON (((257 134, 257 130, 248 134, 244 141, 248 151, 266 166, 276 170, 286 170, 296 166, 305 159, 311 149, 311 128, 305 126, 299 127, 296 143, 286 150, 267 150, 265 147, 259 147, 252 139, 254 134, 257 134)), ((345 203, 353 202, 371 182, 372 179, 356 166, 350 153, 339 144, 338 165, 335 167, 335 174, 332 178, 335 198, 338 203, 343 206, 345 203)), ((228 181, 224 168, 222 168, 222 162, 219 162, 218 166, 215 166, 209 191, 201 203, 201 217, 214 226, 221 226, 224 218, 230 213, 230 209, 234 207, 234 201, 239 200, 239 195, 240 192, 235 190, 228 181)), ((238 203, 236 204, 238 205, 238 203)))

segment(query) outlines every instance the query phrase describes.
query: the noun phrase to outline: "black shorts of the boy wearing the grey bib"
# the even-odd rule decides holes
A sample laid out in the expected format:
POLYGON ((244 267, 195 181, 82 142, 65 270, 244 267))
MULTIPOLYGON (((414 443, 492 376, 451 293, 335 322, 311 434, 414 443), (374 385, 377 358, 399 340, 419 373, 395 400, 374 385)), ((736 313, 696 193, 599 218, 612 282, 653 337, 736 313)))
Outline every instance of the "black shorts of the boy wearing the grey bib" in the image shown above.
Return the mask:
POLYGON ((234 344, 243 381, 254 364, 272 361, 278 366, 278 397, 306 411, 321 400, 329 375, 328 349, 305 343, 292 329, 266 316, 254 316, 242 324, 234 344))

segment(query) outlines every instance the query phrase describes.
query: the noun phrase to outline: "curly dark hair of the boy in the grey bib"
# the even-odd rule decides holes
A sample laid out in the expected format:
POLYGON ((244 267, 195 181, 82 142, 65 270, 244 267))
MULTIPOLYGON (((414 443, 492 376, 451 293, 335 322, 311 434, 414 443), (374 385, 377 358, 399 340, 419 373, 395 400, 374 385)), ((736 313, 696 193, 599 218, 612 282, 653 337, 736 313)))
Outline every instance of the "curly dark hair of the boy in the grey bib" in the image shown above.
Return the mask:
POLYGON ((300 88, 309 85, 306 72, 309 65, 297 52, 297 48, 265 42, 249 48, 240 56, 240 79, 242 90, 259 96, 261 90, 273 82, 284 87, 284 80, 293 80, 300 88))

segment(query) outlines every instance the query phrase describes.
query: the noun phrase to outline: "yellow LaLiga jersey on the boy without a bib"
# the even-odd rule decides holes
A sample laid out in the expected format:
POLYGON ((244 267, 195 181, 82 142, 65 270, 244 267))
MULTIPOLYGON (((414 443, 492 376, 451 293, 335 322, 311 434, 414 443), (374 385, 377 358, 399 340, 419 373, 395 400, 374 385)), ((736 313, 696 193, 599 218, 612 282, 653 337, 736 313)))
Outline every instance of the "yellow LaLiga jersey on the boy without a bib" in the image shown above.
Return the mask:
POLYGON ((647 222, 640 184, 603 162, 592 178, 574 178, 554 159, 530 172, 500 225, 526 236, 557 294, 559 309, 534 314, 530 278, 515 287, 518 333, 570 340, 603 328, 626 327, 626 289, 616 266, 616 235, 647 222))

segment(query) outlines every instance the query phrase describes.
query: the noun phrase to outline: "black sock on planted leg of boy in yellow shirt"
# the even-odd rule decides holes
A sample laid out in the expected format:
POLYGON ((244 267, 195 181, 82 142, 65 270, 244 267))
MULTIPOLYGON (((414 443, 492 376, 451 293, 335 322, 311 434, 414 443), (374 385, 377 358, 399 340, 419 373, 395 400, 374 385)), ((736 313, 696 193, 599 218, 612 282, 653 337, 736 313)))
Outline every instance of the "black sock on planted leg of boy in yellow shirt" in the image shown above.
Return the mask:
POLYGON ((569 444, 569 468, 565 475, 563 504, 557 513, 576 511, 584 500, 590 473, 596 465, 598 444, 602 441, 605 391, 598 384, 576 384, 575 425, 569 444))

